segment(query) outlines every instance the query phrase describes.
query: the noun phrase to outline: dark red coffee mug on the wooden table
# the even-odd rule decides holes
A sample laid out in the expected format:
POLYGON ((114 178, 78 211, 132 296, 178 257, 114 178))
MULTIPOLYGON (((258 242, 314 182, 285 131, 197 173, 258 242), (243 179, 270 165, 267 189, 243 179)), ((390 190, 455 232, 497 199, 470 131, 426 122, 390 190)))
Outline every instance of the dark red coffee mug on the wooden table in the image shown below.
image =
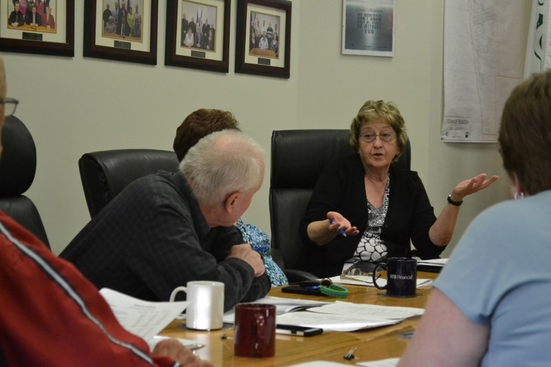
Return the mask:
POLYGON ((238 304, 234 322, 233 353, 240 357, 273 357, 275 306, 238 304))

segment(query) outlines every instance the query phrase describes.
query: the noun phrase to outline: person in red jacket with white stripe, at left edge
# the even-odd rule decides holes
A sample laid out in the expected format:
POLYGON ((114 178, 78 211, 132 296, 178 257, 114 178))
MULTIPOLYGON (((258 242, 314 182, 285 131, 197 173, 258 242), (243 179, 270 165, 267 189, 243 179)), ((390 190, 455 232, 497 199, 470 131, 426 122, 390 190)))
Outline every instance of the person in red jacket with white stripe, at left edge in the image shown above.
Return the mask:
MULTIPOLYGON (((0 141, 16 105, 0 58, 0 141)), ((2 211, 0 303, 0 366, 212 366, 174 339, 149 352, 92 283, 2 211)))

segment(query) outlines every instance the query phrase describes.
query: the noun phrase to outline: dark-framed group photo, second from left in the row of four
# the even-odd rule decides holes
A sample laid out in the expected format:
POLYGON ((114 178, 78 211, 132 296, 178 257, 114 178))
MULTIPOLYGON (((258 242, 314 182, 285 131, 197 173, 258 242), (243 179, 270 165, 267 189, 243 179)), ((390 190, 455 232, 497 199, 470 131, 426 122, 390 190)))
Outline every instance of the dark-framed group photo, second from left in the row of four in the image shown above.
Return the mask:
POLYGON ((158 0, 84 0, 83 56, 156 65, 157 22, 158 0))

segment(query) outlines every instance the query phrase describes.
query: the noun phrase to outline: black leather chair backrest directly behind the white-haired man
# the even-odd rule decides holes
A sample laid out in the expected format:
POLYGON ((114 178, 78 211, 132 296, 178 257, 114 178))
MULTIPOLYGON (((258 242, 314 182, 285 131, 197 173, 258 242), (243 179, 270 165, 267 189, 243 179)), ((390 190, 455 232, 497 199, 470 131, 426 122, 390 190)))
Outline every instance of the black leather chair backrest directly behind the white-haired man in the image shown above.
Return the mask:
POLYGON ((90 216, 95 216, 137 178, 176 169, 174 151, 114 149, 84 154, 79 159, 79 171, 90 216))

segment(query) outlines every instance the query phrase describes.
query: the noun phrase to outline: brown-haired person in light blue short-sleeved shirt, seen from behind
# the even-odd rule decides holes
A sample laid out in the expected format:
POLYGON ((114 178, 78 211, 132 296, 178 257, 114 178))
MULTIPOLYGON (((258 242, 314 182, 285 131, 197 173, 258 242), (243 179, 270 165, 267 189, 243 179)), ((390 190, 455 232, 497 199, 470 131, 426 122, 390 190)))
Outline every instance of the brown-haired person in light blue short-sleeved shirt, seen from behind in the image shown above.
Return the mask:
POLYGON ((518 200, 459 240, 399 366, 549 366, 551 70, 512 91, 499 151, 518 200))

